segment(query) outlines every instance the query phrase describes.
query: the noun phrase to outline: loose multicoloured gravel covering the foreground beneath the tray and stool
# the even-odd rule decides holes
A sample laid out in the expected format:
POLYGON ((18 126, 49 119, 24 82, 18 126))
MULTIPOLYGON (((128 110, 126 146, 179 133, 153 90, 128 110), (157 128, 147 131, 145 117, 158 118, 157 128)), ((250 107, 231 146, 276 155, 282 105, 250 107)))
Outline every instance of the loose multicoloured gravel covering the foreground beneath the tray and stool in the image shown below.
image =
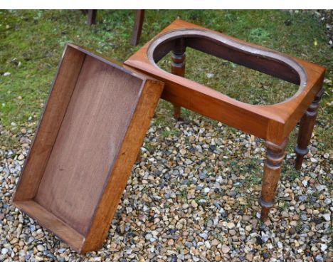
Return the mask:
POLYGON ((0 147, 0 261, 332 261, 333 152, 316 137, 300 174, 286 156, 263 224, 261 140, 203 117, 152 123, 107 241, 80 256, 11 205, 31 127, 0 147))

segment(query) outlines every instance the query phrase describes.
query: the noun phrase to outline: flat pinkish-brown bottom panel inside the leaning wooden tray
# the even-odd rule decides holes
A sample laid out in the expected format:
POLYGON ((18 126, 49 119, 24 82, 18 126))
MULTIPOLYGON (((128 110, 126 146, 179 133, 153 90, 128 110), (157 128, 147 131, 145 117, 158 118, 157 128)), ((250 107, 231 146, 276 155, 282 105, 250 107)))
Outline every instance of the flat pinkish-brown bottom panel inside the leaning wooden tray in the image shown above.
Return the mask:
POLYGON ((85 57, 35 198, 83 236, 117 159, 142 82, 85 57))

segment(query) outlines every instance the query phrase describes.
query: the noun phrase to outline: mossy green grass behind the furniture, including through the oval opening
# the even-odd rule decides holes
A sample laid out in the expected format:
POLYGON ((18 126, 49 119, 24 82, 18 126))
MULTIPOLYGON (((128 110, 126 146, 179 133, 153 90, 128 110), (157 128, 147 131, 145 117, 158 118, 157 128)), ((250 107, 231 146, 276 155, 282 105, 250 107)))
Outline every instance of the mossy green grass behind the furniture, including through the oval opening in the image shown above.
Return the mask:
MULTIPOLYGON (((333 51, 327 44, 324 23, 310 12, 149 10, 146 12, 138 46, 130 46, 134 12, 98 11, 97 24, 87 26, 80 11, 2 10, 0 11, 0 143, 18 147, 21 127, 36 127, 66 42, 92 48, 98 53, 125 61, 150 38, 177 17, 258 43, 282 53, 327 67, 333 80, 333 51), (287 22, 287 23, 286 23, 287 22), (4 76, 4 73, 11 73, 4 76)), ((186 77, 210 86, 246 103, 277 103, 295 93, 297 86, 242 66, 188 49, 186 77), (213 74, 208 78, 207 73, 213 74)), ((169 69, 169 59, 161 67, 169 69)), ((322 148, 332 148, 332 103, 327 86, 320 124, 316 128, 322 148), (327 128, 328 127, 328 128, 327 128)), ((194 113, 182 109, 183 117, 194 113)), ((171 105, 159 103, 155 124, 174 127, 171 105)), ((211 122, 211 121, 208 121, 211 122)), ((172 131, 171 134, 176 133, 172 131)), ((164 132, 164 137, 169 132, 164 132)), ((1 146, 0 145, 0 146, 1 146)))

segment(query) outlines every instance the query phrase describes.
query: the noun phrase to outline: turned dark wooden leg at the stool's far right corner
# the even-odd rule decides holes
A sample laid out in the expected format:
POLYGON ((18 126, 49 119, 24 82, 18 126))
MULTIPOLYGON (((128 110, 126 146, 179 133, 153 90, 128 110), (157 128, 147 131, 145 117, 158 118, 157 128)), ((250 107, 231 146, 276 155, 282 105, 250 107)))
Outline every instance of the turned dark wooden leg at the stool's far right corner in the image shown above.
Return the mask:
POLYGON ((320 92, 314 98, 312 104, 307 109, 305 114, 302 116, 300 120, 300 130, 298 132, 297 146, 295 148, 296 152, 296 162, 295 168, 300 170, 302 167, 303 158, 309 152, 307 148, 310 144, 311 135, 314 127, 314 122, 317 117, 317 110, 319 108, 319 102, 322 98, 322 94, 324 93, 324 89, 320 90, 320 92))

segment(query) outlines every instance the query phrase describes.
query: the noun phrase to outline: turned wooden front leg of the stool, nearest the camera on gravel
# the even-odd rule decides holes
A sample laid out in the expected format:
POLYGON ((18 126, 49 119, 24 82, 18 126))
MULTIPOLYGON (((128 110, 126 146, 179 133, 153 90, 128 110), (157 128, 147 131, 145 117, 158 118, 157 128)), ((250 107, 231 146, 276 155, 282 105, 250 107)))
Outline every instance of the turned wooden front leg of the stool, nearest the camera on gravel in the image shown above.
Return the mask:
POLYGON ((263 175, 263 187, 259 199, 261 219, 263 221, 268 219, 270 208, 274 206, 275 191, 277 188, 277 182, 280 178, 281 163, 283 157, 285 157, 286 145, 287 139, 285 139, 281 145, 275 145, 273 142, 266 142, 267 155, 263 175))

